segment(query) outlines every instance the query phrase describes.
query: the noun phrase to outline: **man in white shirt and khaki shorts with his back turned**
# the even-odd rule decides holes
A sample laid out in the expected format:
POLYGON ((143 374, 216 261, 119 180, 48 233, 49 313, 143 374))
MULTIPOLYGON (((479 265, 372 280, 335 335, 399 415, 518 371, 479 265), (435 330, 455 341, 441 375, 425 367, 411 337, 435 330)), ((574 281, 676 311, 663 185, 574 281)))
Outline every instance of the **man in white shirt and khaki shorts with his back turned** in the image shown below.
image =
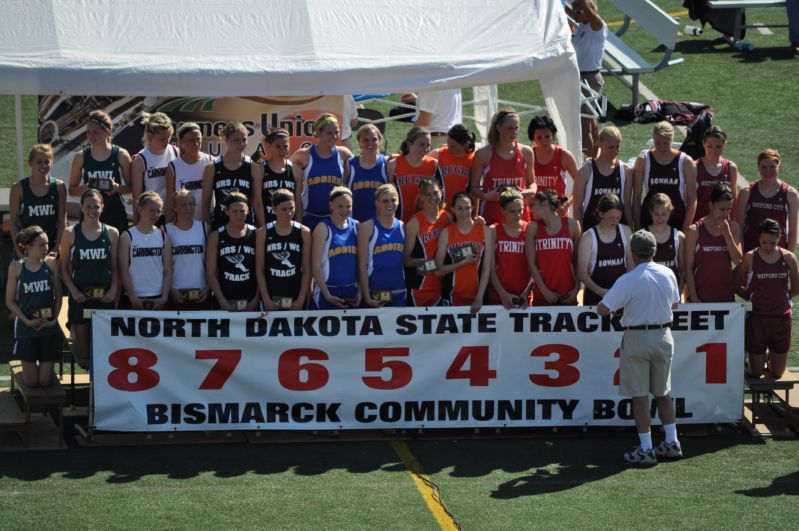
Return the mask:
POLYGON ((671 401, 672 309, 680 302, 674 273, 652 261, 657 249, 655 236, 639 230, 630 238, 635 268, 622 275, 597 307, 599 315, 624 309, 621 324, 619 395, 630 396, 640 446, 624 454, 634 465, 655 465, 658 457, 679 459, 682 447, 677 440, 674 404, 671 401), (652 447, 649 394, 655 396, 666 440, 652 447))

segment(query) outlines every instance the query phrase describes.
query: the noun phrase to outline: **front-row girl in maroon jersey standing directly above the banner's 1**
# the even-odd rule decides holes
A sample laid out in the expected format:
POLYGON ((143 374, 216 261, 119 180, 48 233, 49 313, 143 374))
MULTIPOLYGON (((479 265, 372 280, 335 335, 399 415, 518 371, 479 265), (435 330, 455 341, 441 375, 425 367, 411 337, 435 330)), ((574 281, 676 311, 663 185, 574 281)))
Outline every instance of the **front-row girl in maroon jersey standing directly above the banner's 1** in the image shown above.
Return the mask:
POLYGON ((690 302, 732 302, 732 266, 741 261, 740 229, 730 221, 732 191, 716 183, 710 192, 710 212, 685 235, 685 280, 690 302))

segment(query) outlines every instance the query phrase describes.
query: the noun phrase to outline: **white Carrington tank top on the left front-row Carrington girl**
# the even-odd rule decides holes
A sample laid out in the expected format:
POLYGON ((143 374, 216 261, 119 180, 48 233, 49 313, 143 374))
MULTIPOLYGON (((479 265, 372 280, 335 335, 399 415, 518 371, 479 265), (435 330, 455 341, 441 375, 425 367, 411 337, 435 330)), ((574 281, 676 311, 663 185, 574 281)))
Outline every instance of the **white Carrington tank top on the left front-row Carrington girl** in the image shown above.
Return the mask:
POLYGON ((164 286, 164 233, 158 227, 144 234, 135 226, 130 235, 130 267, 128 274, 137 297, 160 297, 164 286))

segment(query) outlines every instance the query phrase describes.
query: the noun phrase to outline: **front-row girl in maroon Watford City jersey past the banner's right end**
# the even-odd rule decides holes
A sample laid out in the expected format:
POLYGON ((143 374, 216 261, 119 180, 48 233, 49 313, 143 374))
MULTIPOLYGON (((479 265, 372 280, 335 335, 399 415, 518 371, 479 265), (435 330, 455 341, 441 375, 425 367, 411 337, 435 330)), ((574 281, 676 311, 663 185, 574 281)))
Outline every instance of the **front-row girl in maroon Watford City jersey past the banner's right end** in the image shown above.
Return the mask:
POLYGON ((737 284, 745 280, 744 295, 752 303, 744 337, 747 372, 753 378, 781 378, 791 346, 791 298, 799 294, 799 264, 793 253, 777 245, 781 232, 779 223, 764 219, 758 247, 735 268, 737 284))

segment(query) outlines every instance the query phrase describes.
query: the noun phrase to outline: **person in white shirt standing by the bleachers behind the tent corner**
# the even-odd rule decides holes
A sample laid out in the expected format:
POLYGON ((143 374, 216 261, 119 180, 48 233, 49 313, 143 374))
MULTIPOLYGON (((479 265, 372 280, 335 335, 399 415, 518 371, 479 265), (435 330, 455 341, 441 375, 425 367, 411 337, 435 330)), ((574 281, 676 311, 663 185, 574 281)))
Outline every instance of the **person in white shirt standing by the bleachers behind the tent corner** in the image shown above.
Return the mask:
MULTIPOLYGON (((602 92, 605 80, 602 78, 602 55, 605 53, 605 40, 608 38, 608 25, 597 11, 595 0, 574 0, 571 6, 566 4, 566 14, 577 22, 572 36, 572 45, 577 54, 577 66, 580 79, 588 82, 588 86, 596 92, 602 92)), ((590 113, 587 105, 580 108, 582 114, 590 113)), ((599 123, 596 118, 585 116, 580 118, 583 128, 583 153, 594 158, 599 140, 599 123)))

